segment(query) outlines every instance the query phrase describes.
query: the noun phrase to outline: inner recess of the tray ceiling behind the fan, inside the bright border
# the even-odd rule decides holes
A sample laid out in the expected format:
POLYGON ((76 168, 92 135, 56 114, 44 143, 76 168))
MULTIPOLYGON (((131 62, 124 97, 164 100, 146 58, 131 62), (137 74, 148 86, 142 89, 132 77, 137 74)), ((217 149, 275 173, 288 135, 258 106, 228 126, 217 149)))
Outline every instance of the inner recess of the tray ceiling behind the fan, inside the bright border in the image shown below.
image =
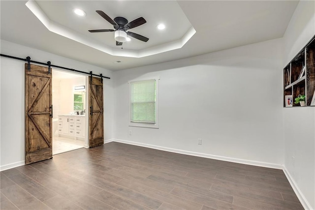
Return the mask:
POLYGON ((131 38, 130 42, 123 44, 124 49, 138 50, 171 42, 183 37, 191 25, 181 7, 172 1, 36 1, 48 18, 58 24, 78 33, 89 36, 100 44, 106 44, 113 48, 116 46, 114 32, 99 32, 91 34, 91 29, 114 29, 114 27, 103 19, 95 10, 102 10, 113 20, 115 17, 125 17, 128 22, 143 17, 147 23, 130 29, 149 38, 148 42, 131 38), (85 17, 75 15, 73 8, 82 8, 85 17), (139 11, 139 8, 146 8, 139 11), (167 30, 158 30, 160 23, 167 23, 167 30))

